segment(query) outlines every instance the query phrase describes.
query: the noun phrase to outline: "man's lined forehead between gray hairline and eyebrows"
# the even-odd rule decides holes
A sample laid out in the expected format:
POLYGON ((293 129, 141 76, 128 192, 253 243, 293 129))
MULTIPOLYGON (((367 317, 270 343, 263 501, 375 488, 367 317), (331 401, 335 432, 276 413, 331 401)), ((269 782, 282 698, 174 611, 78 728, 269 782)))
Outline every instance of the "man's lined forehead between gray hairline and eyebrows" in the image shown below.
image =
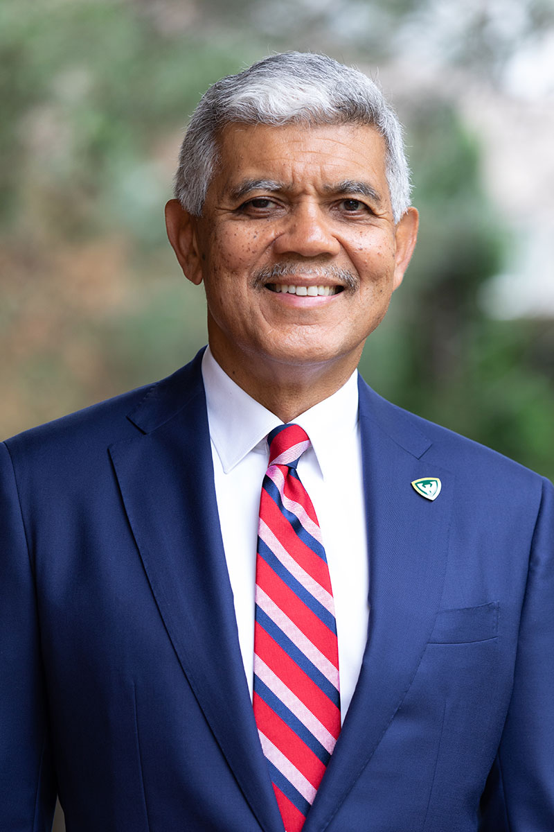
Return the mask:
POLYGON ((218 157, 208 195, 263 179, 292 190, 355 180, 388 191, 385 141, 368 125, 229 124, 219 136, 218 157))

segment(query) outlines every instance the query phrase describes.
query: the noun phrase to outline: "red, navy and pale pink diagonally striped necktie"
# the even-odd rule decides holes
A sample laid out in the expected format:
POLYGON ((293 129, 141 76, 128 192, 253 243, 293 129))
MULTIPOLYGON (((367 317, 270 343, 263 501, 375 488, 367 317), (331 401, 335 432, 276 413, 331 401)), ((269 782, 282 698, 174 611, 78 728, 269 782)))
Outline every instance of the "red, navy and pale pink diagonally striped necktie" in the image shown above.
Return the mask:
POLYGON ((297 474, 297 424, 267 437, 256 562, 253 707, 286 832, 300 832, 341 730, 335 607, 321 530, 297 474))

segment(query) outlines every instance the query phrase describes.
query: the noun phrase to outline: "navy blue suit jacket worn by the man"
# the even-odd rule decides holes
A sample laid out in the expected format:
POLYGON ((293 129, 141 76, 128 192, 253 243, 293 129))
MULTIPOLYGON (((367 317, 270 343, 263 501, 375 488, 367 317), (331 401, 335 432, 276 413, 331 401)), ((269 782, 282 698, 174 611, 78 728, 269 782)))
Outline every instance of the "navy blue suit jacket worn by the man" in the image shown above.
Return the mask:
MULTIPOLYGON (((305 832, 552 832, 552 486, 363 382, 360 430, 369 636, 305 832)), ((68 832, 282 832, 199 357, 0 446, 0 507, 2 832, 56 790, 68 832)))

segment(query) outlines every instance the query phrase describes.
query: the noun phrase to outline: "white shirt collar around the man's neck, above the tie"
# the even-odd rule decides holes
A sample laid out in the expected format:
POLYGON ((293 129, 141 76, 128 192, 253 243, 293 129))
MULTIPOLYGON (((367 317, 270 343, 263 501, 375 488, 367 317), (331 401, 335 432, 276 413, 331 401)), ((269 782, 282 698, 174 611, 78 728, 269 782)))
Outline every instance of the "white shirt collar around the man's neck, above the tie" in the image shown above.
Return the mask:
MULTIPOLYGON (((330 457, 341 453, 342 440, 357 428, 357 375, 355 370, 341 389, 294 419, 310 437, 324 477, 330 457)), ((250 451, 267 454, 267 433, 282 424, 281 419, 235 384, 209 347, 203 354, 202 377, 210 438, 223 471, 231 471, 250 451)))

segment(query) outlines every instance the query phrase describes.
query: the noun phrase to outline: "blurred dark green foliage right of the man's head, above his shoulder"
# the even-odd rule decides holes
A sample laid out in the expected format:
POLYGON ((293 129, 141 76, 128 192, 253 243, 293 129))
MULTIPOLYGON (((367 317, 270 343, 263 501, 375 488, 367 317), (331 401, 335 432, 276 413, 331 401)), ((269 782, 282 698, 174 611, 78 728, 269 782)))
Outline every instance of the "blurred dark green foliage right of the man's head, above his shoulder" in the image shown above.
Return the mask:
POLYGON ((483 192, 478 141, 439 99, 407 116, 419 240, 361 372, 396 404, 554 478, 552 322, 483 313, 479 290, 510 246, 483 192))

